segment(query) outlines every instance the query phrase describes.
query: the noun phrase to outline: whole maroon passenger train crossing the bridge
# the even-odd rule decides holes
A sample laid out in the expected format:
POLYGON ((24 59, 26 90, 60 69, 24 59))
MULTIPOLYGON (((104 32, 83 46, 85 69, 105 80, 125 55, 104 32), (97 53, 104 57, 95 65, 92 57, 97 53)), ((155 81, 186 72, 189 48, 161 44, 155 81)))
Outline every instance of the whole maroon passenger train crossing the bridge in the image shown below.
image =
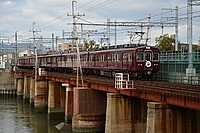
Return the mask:
MULTIPOLYGON (((133 78, 151 78, 160 69, 160 51, 154 46, 80 52, 83 73, 114 76, 129 73, 133 78)), ((17 58, 19 68, 33 69, 35 57, 17 58)), ((38 67, 47 71, 69 71, 77 67, 77 53, 38 56, 38 67)))

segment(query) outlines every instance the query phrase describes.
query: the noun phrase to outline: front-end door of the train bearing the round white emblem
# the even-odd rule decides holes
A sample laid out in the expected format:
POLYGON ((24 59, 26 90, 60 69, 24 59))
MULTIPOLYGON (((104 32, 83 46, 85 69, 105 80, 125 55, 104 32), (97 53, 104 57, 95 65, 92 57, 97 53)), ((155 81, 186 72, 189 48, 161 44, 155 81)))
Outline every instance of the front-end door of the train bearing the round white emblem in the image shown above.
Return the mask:
POLYGON ((152 70, 152 51, 145 51, 145 70, 152 70))

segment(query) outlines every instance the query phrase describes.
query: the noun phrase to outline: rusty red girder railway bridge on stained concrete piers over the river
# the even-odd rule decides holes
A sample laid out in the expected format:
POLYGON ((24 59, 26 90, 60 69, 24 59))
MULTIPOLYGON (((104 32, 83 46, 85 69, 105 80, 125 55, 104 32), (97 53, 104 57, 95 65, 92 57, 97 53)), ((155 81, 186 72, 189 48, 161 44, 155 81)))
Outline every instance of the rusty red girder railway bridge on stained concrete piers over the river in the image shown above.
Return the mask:
POLYGON ((49 119, 72 122, 75 132, 200 132, 199 85, 83 75, 77 87, 76 74, 34 76, 34 70, 16 71, 17 95, 49 119))

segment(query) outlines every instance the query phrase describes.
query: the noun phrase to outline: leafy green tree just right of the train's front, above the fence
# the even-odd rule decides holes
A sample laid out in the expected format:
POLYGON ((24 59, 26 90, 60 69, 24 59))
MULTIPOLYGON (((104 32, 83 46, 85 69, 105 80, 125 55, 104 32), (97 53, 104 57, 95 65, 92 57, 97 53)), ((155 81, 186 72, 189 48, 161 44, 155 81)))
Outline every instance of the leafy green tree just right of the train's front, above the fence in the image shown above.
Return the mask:
POLYGON ((155 38, 156 46, 160 49, 161 52, 173 51, 175 44, 175 34, 168 35, 164 34, 155 38))

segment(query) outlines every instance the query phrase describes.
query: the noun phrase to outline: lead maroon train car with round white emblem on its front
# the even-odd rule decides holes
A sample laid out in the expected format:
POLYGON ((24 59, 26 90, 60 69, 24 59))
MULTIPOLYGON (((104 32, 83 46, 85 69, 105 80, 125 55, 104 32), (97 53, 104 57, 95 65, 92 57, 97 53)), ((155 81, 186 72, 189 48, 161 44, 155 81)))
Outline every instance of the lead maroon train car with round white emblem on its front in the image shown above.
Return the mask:
POLYGON ((160 68, 159 53, 153 46, 92 51, 88 68, 93 74, 114 76, 123 72, 133 78, 151 78, 160 68))

